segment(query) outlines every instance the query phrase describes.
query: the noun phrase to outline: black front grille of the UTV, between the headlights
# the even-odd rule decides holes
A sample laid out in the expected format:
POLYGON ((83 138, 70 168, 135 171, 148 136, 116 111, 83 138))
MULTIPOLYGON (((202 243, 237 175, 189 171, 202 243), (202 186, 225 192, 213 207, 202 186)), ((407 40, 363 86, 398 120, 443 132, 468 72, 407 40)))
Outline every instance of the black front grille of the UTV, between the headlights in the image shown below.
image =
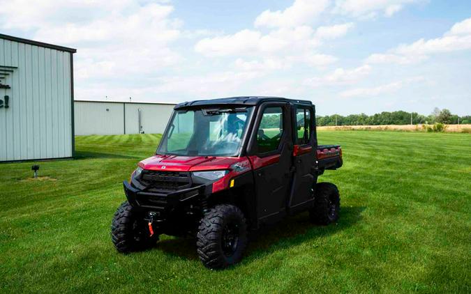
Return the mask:
POLYGON ((177 191, 191 187, 191 176, 180 171, 142 171, 140 183, 149 191, 177 191))

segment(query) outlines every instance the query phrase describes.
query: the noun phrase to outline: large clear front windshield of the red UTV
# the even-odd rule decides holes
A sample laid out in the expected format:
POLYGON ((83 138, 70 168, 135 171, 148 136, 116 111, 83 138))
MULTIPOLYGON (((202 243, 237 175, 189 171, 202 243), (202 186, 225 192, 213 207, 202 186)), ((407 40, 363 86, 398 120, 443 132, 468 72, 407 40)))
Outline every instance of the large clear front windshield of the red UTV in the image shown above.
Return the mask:
POLYGON ((158 154, 236 156, 253 107, 177 110, 158 146, 158 154))

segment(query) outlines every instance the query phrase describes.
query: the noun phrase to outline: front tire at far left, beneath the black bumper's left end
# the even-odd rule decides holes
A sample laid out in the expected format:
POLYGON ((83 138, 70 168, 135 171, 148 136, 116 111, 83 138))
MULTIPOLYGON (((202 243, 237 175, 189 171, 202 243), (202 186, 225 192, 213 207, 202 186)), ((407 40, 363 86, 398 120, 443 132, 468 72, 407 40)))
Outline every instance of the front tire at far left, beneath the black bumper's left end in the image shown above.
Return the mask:
POLYGON ((111 224, 111 240, 120 253, 149 249, 158 240, 158 235, 149 237, 147 223, 138 215, 128 201, 124 201, 114 212, 111 224))

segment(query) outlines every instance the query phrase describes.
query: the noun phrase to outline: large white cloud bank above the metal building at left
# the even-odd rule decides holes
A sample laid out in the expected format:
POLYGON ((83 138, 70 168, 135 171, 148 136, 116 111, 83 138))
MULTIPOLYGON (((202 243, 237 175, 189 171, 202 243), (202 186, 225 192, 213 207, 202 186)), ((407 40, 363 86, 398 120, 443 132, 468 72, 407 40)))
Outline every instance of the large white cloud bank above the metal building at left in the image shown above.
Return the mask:
POLYGON ((183 60, 170 47, 181 38, 181 21, 171 17, 171 5, 127 0, 12 0, 6 5, 0 27, 33 31, 35 40, 77 48, 78 89, 84 80, 158 74, 156 69, 183 60))

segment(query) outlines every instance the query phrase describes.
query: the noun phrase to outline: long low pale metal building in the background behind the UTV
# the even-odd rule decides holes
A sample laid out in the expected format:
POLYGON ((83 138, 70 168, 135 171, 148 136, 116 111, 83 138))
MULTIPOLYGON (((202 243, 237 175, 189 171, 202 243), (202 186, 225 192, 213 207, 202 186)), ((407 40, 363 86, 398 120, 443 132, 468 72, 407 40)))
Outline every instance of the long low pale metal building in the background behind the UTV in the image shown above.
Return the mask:
POLYGON ((174 104, 75 100, 75 134, 163 133, 174 104))

